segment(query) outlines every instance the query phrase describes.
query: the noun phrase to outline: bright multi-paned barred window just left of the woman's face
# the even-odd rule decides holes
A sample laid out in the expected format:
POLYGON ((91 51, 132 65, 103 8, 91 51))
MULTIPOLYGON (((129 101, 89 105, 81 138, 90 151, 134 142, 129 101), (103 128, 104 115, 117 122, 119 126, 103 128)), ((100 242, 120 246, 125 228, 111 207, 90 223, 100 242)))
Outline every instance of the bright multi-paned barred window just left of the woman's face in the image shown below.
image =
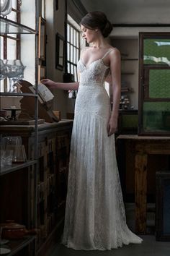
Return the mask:
POLYGON ((73 74, 78 81, 77 62, 80 54, 80 29, 79 25, 68 15, 67 24, 67 68, 68 73, 73 74))

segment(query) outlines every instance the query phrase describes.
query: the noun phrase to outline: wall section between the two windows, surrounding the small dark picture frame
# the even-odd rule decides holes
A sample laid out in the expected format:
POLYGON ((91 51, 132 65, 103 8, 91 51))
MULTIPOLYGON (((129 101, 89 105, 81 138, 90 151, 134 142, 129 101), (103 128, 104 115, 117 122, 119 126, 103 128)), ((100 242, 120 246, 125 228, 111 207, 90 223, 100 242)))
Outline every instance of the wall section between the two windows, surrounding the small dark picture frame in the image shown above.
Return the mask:
MULTIPOLYGON (((58 0, 58 10, 55 10, 55 1, 48 0, 45 7, 45 19, 47 20, 47 77, 55 82, 63 82, 63 72, 55 69, 55 35, 64 36, 64 9, 65 1, 58 0)), ((55 95, 54 110, 61 111, 61 117, 66 118, 66 100, 68 93, 63 90, 52 90, 55 95)))

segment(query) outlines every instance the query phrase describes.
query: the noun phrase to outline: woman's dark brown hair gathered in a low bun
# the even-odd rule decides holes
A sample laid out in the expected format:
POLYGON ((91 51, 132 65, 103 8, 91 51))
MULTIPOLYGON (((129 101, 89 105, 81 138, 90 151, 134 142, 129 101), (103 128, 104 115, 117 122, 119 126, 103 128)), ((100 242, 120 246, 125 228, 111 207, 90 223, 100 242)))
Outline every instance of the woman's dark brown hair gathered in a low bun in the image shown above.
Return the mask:
POLYGON ((112 31, 112 24, 103 12, 89 12, 81 19, 80 25, 91 29, 99 28, 104 38, 112 31))

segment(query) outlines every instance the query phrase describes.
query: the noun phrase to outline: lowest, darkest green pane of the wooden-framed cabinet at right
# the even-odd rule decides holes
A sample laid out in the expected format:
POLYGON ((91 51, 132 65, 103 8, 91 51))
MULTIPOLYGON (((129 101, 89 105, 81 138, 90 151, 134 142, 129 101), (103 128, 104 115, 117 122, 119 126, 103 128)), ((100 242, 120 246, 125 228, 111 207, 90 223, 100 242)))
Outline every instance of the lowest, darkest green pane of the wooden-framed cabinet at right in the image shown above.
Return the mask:
POLYGON ((144 102, 143 128, 145 131, 170 131, 170 102, 144 102))

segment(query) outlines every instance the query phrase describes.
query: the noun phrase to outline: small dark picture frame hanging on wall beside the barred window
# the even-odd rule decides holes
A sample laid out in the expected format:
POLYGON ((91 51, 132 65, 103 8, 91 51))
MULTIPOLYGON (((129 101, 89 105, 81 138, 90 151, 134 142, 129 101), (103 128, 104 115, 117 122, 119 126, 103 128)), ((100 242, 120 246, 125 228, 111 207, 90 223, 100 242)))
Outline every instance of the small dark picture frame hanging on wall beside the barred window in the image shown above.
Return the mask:
POLYGON ((64 67, 64 38, 56 33, 55 38, 55 69, 63 70, 64 67))

